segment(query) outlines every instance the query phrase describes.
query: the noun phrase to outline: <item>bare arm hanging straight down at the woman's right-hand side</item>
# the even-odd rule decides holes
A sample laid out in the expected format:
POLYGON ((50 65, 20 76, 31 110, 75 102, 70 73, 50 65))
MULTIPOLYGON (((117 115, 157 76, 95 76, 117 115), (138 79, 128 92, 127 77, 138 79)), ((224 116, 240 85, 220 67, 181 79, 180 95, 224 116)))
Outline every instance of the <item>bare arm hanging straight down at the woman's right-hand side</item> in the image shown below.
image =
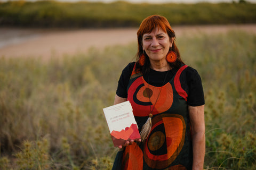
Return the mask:
POLYGON ((188 106, 193 144, 193 170, 202 170, 205 155, 204 105, 188 106))

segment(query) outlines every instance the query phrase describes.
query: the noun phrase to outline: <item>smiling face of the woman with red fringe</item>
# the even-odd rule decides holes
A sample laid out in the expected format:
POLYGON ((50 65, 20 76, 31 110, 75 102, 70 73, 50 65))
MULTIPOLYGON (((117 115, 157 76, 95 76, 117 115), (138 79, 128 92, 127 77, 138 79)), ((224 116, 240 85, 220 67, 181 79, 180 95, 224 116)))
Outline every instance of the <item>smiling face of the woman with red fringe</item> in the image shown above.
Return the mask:
POLYGON ((149 57, 150 62, 166 62, 165 57, 172 47, 174 38, 169 38, 161 28, 156 28, 142 36, 142 47, 149 57))

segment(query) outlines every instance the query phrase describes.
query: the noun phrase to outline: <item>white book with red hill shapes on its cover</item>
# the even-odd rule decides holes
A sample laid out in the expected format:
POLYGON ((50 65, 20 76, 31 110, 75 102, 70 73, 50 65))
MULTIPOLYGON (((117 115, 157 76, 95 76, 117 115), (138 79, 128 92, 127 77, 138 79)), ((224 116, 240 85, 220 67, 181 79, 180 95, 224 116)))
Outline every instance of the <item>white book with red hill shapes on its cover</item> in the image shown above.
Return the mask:
POLYGON ((124 145, 126 141, 140 139, 137 122, 130 101, 103 108, 114 146, 124 145))

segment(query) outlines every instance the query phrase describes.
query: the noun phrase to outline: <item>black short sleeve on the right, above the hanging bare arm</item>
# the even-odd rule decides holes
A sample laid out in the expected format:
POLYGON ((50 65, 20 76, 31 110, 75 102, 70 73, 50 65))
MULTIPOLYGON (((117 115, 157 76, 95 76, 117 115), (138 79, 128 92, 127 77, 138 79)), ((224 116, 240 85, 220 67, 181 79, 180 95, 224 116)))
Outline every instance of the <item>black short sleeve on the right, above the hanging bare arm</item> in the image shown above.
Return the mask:
POLYGON ((189 106, 204 105, 204 91, 200 75, 192 67, 187 67, 184 73, 186 74, 186 83, 183 85, 185 87, 182 86, 182 88, 185 89, 188 94, 187 104, 189 106))

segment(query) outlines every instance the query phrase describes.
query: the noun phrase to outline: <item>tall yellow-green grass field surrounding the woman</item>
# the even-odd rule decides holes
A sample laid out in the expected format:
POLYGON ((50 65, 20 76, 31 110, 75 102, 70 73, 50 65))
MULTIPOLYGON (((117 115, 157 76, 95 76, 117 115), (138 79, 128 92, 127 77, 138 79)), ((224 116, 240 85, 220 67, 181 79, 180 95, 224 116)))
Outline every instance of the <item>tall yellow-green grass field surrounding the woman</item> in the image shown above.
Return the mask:
MULTIPOLYGON (((256 168, 256 35, 178 38, 205 92, 206 169, 256 168)), ((110 169, 102 108, 136 44, 42 62, 0 59, 0 169, 110 169)))

